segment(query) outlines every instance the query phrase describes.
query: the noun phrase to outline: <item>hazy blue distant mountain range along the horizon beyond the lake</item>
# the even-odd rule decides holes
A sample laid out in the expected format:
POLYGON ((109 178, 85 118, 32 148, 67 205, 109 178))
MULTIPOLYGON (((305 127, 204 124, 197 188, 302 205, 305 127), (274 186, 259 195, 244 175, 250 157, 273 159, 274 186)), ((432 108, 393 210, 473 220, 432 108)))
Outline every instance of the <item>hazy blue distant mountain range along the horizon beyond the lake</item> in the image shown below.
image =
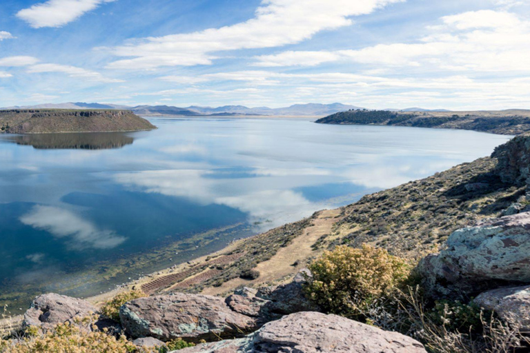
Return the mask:
MULTIPOLYGON (((59 104, 39 104, 39 105, 27 105, 27 106, 14 106, 0 108, 0 110, 9 109, 127 109, 132 110, 138 115, 181 115, 186 117, 202 117, 202 116, 233 116, 233 115, 266 115, 266 116, 308 116, 308 117, 325 117, 337 112, 344 112, 346 110, 362 109, 355 105, 346 105, 342 103, 332 104, 320 104, 320 103, 308 103, 308 104, 295 104, 286 108, 268 108, 268 107, 257 107, 248 108, 243 105, 225 105, 223 107, 199 107, 192 105, 187 108, 179 108, 170 105, 116 105, 116 104, 103 104, 103 103, 83 103, 83 102, 70 102, 70 103, 59 103, 59 104)), ((385 109, 393 112, 448 112, 449 110, 426 110, 422 108, 406 108, 406 109, 385 109)))

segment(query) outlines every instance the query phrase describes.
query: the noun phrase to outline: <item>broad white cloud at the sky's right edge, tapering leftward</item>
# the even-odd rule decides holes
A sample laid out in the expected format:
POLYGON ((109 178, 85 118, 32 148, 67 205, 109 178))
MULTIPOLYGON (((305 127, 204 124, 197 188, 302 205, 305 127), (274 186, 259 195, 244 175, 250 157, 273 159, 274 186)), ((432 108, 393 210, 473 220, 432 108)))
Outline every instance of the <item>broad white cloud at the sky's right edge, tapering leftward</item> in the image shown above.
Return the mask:
POLYGON ((529 72, 530 21, 507 11, 480 10, 442 17, 429 36, 360 50, 299 51, 256 57, 258 66, 313 66, 350 61, 437 72, 529 72))

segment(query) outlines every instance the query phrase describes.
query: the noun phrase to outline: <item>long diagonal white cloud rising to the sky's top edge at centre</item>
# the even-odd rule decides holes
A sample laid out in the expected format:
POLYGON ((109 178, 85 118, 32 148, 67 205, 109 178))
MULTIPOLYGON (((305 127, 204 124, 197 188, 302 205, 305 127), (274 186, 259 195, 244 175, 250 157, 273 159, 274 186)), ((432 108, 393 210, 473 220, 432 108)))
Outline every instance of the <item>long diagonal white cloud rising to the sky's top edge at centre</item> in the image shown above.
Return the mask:
POLYGON ((349 26, 349 17, 369 14, 402 0, 262 0, 253 19, 202 32, 150 37, 114 48, 123 59, 109 68, 151 69, 173 65, 209 65, 222 50, 273 48, 300 43, 322 30, 349 26))

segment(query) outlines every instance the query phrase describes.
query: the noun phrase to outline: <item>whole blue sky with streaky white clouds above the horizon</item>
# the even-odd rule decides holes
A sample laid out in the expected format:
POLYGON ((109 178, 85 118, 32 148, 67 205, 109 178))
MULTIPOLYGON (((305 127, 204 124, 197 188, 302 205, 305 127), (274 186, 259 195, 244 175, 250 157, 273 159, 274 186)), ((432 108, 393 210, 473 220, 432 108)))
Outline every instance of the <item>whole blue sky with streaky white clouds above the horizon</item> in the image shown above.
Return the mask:
POLYGON ((530 108, 530 0, 2 0, 0 106, 530 108))

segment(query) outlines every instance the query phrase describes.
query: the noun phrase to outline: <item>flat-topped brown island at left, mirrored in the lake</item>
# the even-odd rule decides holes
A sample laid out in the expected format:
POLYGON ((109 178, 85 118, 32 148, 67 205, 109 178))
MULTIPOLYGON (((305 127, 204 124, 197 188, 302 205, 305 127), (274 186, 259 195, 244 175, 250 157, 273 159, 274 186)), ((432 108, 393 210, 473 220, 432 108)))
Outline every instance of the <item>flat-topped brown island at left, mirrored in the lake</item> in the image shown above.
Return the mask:
POLYGON ((0 132, 119 132, 152 130, 155 126, 128 110, 1 110, 0 132))

